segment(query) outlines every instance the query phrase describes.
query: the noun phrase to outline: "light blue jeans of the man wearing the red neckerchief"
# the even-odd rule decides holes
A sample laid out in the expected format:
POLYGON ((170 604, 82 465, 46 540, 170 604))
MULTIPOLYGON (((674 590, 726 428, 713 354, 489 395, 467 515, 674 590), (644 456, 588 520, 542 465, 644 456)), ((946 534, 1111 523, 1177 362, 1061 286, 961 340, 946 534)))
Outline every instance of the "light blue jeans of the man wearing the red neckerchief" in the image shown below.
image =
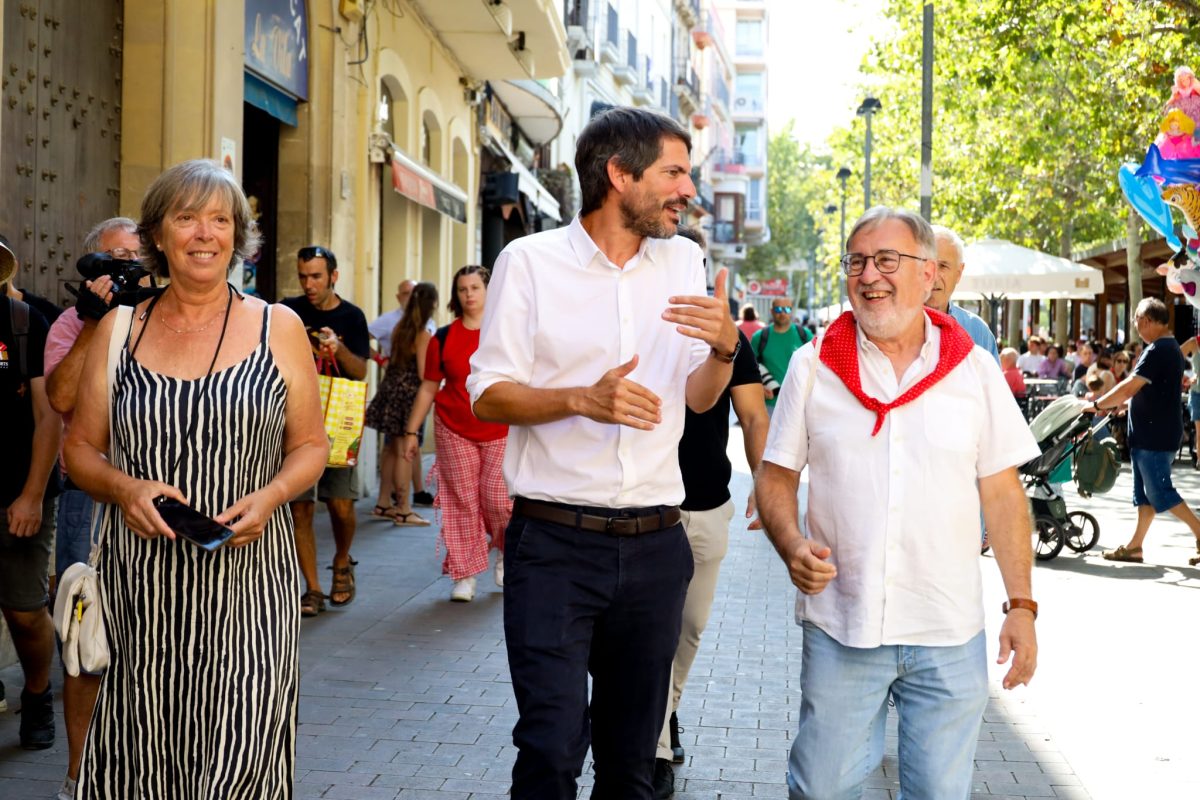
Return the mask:
POLYGON ((947 648, 847 648, 804 622, 790 800, 853 800, 883 760, 888 694, 900 717, 898 800, 966 800, 988 704, 983 631, 947 648))

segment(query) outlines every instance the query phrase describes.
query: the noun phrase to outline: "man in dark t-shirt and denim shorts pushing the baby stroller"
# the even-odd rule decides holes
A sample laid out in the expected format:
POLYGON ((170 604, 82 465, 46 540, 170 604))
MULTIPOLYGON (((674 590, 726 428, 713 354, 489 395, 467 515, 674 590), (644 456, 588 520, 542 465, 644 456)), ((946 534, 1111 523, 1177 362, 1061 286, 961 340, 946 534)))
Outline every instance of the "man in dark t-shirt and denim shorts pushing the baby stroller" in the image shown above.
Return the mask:
MULTIPOLYGON (((1183 439, 1180 391, 1183 385, 1183 354, 1168 330, 1170 315, 1157 297, 1138 303, 1134 324, 1147 344, 1133 373, 1112 391, 1096 401, 1097 409, 1112 409, 1129 401, 1129 461, 1133 464, 1133 504, 1138 527, 1128 545, 1104 553, 1110 561, 1142 560, 1141 543, 1156 513, 1170 511, 1192 529, 1200 553, 1200 519, 1171 483, 1171 464, 1183 439)), ((1200 555, 1188 559, 1200 564, 1200 555)))

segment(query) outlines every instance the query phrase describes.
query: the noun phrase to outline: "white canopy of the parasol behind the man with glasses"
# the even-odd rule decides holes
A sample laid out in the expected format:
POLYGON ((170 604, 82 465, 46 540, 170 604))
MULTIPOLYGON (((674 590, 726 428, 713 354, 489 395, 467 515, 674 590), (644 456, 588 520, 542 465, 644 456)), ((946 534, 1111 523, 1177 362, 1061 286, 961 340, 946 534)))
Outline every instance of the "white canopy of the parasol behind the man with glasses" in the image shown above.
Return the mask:
POLYGON ((955 300, 1094 300, 1104 291, 1104 272, 1096 267, 1014 245, 984 239, 967 245, 966 269, 955 300))

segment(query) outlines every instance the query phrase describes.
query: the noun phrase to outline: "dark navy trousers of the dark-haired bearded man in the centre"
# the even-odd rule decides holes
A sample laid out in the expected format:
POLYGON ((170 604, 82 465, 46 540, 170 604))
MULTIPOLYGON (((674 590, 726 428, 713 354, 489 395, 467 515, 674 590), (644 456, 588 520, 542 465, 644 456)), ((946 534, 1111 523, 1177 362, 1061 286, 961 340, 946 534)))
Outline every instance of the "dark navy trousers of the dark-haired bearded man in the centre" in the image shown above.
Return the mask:
POLYGON ((520 712, 512 800, 574 800, 589 744, 594 800, 650 800, 691 573, 679 524, 611 536, 512 518, 504 547, 504 636, 520 712))

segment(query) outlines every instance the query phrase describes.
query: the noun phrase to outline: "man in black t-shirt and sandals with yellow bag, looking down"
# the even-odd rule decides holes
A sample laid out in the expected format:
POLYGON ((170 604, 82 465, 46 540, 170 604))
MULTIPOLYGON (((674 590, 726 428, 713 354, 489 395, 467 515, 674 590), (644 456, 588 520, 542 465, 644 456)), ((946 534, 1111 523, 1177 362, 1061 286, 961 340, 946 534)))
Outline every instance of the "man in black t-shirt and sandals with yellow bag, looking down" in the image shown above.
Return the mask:
MULTIPOLYGON (((362 309, 337 296, 337 258, 325 247, 301 247, 296 257, 302 296, 286 297, 283 305, 296 312, 308 329, 313 359, 332 359, 343 378, 365 380, 367 359, 371 356, 371 335, 362 309)), ((350 545, 354 542, 354 500, 358 493, 358 469, 330 467, 317 486, 292 500, 295 521, 296 558, 307 588, 300 597, 300 613, 316 616, 325 610, 325 595, 317 575, 317 541, 312 529, 316 500, 329 509, 334 527, 334 585, 329 602, 344 606, 354 600, 354 564, 350 545)))

